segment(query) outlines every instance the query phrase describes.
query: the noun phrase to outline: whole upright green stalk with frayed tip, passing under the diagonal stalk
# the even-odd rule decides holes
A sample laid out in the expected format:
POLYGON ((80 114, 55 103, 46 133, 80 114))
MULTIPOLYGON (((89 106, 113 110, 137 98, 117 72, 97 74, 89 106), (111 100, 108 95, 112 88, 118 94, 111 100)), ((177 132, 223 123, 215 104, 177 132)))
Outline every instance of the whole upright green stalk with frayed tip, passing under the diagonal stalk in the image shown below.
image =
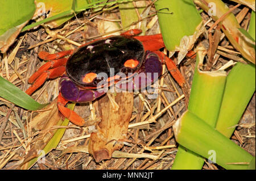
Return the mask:
MULTIPOLYGON (((204 58, 201 51, 197 52, 188 110, 214 128, 220 111, 226 73, 224 71, 200 71, 198 67, 200 58, 201 60, 204 58)), ((179 145, 172 170, 200 170, 203 164, 203 157, 179 145)))

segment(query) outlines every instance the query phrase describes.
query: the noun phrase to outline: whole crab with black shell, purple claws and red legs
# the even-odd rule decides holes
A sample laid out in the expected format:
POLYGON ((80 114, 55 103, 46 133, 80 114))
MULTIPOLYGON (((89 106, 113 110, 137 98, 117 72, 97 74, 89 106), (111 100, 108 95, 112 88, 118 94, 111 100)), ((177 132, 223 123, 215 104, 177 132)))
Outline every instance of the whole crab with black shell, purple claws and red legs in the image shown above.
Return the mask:
POLYGON ((118 85, 119 89, 130 85, 133 89, 144 89, 158 79, 162 73, 162 63, 167 65, 177 83, 183 86, 185 79, 174 61, 159 51, 164 47, 162 35, 137 36, 139 33, 141 30, 129 30, 119 36, 93 40, 77 50, 65 50, 55 54, 39 52, 39 57, 48 62, 28 79, 28 83, 32 85, 26 93, 31 95, 47 79, 61 77, 60 94, 57 98, 59 112, 73 124, 82 126, 85 120, 65 107, 68 102, 93 101, 105 94, 103 87, 112 85, 118 85), (113 70, 118 74, 113 74, 113 70), (108 76, 98 78, 101 73, 108 76), (146 83, 142 78, 134 81, 140 73, 146 76, 146 83), (148 76, 152 73, 157 74, 148 76))

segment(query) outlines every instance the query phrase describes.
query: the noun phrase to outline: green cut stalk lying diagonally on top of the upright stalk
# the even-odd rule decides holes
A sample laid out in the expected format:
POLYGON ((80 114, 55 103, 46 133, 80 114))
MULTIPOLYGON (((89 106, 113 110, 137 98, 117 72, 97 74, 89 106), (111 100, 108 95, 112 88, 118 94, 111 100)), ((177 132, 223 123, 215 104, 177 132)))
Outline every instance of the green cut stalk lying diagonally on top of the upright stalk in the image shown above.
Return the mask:
POLYGON ((173 126, 176 141, 225 169, 247 169, 254 157, 191 111, 173 126))

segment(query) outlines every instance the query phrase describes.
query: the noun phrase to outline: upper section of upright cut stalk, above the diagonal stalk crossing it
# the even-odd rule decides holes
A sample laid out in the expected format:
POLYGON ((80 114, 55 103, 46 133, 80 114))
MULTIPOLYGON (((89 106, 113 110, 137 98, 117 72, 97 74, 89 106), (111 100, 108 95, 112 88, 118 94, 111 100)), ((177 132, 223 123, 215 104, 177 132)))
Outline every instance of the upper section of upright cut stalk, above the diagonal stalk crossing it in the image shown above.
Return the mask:
POLYGON ((225 83, 225 71, 195 71, 188 110, 213 128, 220 112, 225 83))

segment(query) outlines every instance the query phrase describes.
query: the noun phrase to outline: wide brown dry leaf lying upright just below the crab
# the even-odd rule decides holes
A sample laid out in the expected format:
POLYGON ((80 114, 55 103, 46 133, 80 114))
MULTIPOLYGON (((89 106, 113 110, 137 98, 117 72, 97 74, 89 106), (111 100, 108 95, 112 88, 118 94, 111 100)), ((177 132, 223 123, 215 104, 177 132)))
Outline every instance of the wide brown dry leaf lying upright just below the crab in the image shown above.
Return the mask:
POLYGON ((119 109, 115 111, 108 96, 98 100, 101 122, 97 132, 90 135, 89 153, 96 162, 112 158, 114 150, 123 147, 133 111, 133 92, 120 92, 114 96, 119 109))

